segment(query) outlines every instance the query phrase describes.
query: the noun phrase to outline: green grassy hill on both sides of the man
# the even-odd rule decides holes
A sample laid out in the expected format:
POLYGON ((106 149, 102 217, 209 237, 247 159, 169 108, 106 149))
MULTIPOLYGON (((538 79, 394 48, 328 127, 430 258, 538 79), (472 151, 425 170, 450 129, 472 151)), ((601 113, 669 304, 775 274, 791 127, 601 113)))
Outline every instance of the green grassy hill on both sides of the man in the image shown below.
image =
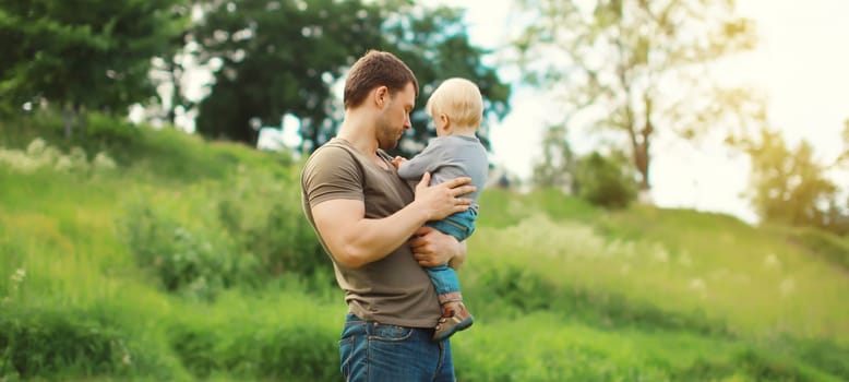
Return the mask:
MULTIPOLYGON (((0 381, 340 379, 346 307, 297 159, 99 116, 60 131, 0 122, 0 381)), ((849 380, 845 238, 557 192, 480 204, 461 381, 849 380)))

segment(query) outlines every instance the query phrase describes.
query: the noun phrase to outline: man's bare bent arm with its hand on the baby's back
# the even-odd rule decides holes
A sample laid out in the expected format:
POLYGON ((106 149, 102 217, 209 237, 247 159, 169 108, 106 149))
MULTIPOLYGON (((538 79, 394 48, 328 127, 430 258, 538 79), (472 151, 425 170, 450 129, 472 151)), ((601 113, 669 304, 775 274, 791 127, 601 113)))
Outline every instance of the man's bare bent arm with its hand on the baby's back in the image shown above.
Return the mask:
MULTIPOLYGON (((456 178, 428 187, 426 174, 416 187, 416 200, 384 218, 366 218, 362 201, 334 199, 311 207, 315 228, 336 261, 357 268, 378 261, 403 246, 428 220, 442 219, 468 210, 469 200, 459 195, 474 192, 469 178, 456 178)), ((456 241, 456 240, 455 240, 456 241)))

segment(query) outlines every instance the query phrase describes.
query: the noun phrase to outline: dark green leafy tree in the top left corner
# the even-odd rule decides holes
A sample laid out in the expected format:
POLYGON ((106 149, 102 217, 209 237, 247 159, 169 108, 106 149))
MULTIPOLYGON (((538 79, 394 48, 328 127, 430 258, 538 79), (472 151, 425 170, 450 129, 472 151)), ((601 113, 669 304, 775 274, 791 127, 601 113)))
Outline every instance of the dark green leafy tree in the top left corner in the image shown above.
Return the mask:
POLYGON ((62 107, 68 136, 85 109, 123 112, 153 94, 151 58, 180 33, 180 1, 0 2, 0 98, 62 107))

